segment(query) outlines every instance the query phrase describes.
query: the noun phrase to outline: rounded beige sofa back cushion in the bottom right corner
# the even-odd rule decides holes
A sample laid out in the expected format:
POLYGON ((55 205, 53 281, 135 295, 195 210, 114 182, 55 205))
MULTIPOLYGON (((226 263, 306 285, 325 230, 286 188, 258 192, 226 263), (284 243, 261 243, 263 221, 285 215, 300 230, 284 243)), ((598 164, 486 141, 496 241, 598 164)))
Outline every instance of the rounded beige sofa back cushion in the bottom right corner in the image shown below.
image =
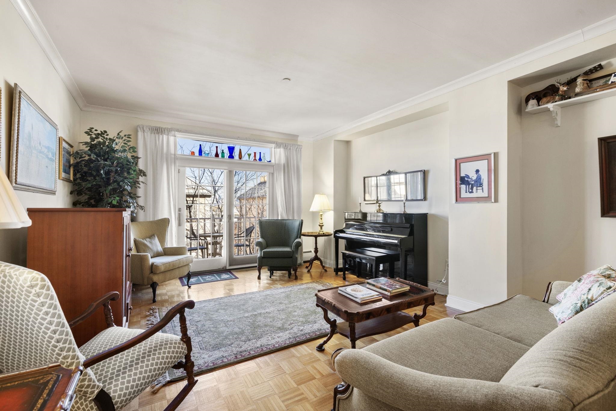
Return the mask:
POLYGON ((551 389, 573 405, 585 401, 583 409, 599 409, 593 402, 606 393, 614 397, 614 312, 616 295, 610 295, 575 315, 529 349, 500 382, 551 389))

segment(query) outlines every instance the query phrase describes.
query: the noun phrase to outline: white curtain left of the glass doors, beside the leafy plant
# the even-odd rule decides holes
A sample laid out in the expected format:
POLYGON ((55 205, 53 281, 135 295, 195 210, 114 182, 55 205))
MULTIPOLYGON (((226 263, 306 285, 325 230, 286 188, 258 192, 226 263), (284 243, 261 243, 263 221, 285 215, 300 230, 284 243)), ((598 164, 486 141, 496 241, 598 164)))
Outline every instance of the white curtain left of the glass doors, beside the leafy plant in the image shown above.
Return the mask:
POLYGON ((140 168, 147 176, 137 190, 139 204, 137 221, 169 218, 167 245, 177 244, 177 139, 176 131, 156 126, 137 126, 137 155, 140 168))

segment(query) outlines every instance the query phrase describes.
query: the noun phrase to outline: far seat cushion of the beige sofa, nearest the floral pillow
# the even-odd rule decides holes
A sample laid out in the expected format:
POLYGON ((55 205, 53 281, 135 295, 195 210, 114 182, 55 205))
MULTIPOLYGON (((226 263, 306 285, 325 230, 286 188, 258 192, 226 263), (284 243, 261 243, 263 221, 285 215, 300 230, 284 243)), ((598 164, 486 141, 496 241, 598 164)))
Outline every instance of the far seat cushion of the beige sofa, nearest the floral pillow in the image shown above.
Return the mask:
POLYGON ((547 303, 518 294, 453 318, 532 347, 557 326, 549 307, 547 303))

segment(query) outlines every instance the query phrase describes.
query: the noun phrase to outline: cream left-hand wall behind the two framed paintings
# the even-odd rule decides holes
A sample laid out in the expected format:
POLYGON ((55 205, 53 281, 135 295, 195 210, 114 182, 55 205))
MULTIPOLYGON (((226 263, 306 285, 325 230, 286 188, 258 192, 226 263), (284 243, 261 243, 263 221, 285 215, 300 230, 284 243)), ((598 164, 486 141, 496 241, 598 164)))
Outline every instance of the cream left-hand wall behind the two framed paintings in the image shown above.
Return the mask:
MULTIPOLYGON (((17 83, 57 124, 59 135, 76 145, 81 110, 51 65, 17 10, 8 0, 0 1, 0 168, 9 175, 10 132, 13 115, 13 84, 17 83)), ((57 171, 56 171, 57 175, 57 171)), ((70 207, 71 184, 58 181, 55 195, 17 191, 28 207, 70 207)), ((0 261, 26 264, 26 229, 0 230, 0 261)), ((70 235, 70 230, 67 232, 70 235)))

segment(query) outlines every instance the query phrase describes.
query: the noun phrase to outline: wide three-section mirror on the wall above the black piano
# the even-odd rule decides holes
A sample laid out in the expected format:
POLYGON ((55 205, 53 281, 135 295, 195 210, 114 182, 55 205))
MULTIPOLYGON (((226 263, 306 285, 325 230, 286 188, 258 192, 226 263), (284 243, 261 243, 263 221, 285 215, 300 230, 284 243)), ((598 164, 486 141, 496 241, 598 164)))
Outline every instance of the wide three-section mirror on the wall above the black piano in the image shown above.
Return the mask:
POLYGON ((380 176, 363 177, 364 201, 426 200, 425 170, 398 173, 388 170, 380 176))

